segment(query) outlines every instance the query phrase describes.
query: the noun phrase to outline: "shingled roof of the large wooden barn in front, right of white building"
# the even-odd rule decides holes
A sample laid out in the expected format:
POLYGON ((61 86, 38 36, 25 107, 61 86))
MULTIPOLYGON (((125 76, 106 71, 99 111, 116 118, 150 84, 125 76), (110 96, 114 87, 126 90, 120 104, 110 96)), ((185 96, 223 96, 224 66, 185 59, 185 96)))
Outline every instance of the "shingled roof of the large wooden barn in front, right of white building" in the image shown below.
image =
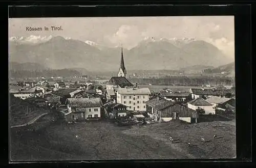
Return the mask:
POLYGON ((147 105, 155 108, 156 110, 161 110, 161 109, 167 108, 167 107, 175 104, 172 101, 168 101, 168 100, 165 100, 165 99, 162 99, 162 98, 159 98, 159 99, 154 98, 154 99, 146 101, 145 103, 147 105))

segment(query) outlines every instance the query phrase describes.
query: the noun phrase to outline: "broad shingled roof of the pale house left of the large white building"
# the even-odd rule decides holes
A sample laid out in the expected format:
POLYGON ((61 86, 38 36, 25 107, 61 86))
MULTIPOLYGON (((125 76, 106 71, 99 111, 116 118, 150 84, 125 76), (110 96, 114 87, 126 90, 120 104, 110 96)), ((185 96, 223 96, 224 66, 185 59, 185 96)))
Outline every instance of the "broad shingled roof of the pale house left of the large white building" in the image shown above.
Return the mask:
POLYGON ((100 98, 68 98, 68 104, 71 107, 101 107, 102 102, 100 98))

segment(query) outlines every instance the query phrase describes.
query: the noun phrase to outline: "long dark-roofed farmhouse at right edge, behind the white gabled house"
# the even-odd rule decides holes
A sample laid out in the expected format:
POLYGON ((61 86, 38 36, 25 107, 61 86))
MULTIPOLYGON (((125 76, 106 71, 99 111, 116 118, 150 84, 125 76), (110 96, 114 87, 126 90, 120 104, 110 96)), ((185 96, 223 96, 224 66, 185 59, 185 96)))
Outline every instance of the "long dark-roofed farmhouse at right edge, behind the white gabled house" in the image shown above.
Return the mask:
POLYGON ((230 96, 234 96, 235 92, 232 89, 190 89, 190 93, 193 99, 197 99, 199 97, 209 98, 211 96, 219 96, 219 97, 226 97, 228 94, 230 96))

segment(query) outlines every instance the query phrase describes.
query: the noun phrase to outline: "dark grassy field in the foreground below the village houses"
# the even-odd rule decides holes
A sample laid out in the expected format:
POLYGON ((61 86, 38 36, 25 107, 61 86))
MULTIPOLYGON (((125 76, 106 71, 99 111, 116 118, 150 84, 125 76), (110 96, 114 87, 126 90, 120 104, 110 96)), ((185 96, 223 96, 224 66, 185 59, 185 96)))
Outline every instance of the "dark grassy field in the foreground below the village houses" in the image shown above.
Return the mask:
MULTIPOLYGON (((46 116, 46 118, 49 116, 46 116)), ((49 119, 56 119, 51 116, 49 119)), ((44 123, 44 118, 37 124, 44 123)), ((108 120, 67 125, 62 119, 31 131, 11 129, 11 161, 98 159, 193 159, 236 157, 235 121, 179 121, 119 127, 108 120), (230 124, 231 123, 231 124, 230 124), (213 135, 217 134, 217 138, 213 135), (170 143, 172 136, 176 143, 170 143), (200 138, 205 138, 205 143, 200 138), (192 146, 188 147, 190 142, 192 146)))

